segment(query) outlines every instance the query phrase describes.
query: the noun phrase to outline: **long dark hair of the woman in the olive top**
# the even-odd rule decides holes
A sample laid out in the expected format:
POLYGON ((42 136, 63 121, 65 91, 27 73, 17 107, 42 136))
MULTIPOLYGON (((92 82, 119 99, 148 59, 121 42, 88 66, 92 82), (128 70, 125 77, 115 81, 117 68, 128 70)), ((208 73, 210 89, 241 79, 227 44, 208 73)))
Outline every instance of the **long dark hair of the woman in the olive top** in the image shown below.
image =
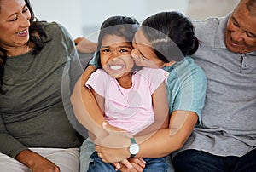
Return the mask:
MULTIPOLYGON (((34 12, 32 10, 32 6, 29 2, 29 0, 24 0, 26 3, 27 8, 29 9, 31 13, 31 19, 30 26, 29 26, 29 43, 32 43, 33 50, 32 54, 38 54, 43 48, 44 48, 44 41, 42 40, 42 37, 47 37, 46 32, 44 32, 43 26, 38 22, 38 20, 35 18, 34 12)), ((1 0, 0 0, 1 2, 1 0)), ((1 7, 0 7, 0 13, 1 13, 1 7)), ((4 75, 4 65, 7 60, 7 52, 5 49, 0 47, 0 94, 4 94, 3 90, 3 75, 4 75)))

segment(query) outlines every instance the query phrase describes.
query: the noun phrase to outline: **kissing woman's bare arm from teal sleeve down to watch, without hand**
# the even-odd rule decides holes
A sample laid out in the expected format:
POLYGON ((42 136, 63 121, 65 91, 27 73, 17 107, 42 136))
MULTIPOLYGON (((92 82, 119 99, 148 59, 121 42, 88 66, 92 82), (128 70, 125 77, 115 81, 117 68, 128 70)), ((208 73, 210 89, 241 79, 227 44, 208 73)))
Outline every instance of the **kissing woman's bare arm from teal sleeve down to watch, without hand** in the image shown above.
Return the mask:
POLYGON ((137 138, 137 142, 140 143, 140 152, 137 157, 163 157, 180 149, 191 135, 197 120, 198 116, 195 112, 172 112, 169 129, 160 129, 145 141, 143 138, 137 138))

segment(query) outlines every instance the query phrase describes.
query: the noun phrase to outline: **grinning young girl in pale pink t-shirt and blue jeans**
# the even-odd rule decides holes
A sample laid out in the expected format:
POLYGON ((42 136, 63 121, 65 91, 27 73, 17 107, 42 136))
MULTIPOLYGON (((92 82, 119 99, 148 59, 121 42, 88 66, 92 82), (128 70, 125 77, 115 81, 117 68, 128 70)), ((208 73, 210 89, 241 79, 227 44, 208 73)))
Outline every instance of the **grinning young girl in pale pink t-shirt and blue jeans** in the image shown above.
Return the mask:
MULTIPOLYGON (((86 86, 92 90, 109 124, 131 135, 146 135, 168 127, 166 77, 160 69, 134 67, 131 42, 137 28, 137 20, 130 17, 113 16, 102 23, 96 51, 98 69, 86 86)), ((90 137, 94 139, 93 134, 90 137)), ((113 165, 103 163, 96 152, 91 158, 94 163, 90 171, 115 171, 113 165)), ((167 169, 165 158, 145 158, 144 161, 146 169, 151 171, 167 169)))

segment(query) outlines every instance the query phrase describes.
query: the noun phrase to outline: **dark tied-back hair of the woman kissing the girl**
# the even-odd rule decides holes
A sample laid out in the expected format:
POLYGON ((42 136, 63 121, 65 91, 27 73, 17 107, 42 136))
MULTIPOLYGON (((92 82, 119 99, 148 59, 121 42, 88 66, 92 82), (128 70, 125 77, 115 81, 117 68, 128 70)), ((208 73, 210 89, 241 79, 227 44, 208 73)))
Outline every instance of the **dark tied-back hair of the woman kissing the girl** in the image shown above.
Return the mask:
POLYGON ((184 56, 194 54, 199 46, 191 21, 175 11, 148 17, 143 21, 142 30, 163 62, 183 60, 184 56))

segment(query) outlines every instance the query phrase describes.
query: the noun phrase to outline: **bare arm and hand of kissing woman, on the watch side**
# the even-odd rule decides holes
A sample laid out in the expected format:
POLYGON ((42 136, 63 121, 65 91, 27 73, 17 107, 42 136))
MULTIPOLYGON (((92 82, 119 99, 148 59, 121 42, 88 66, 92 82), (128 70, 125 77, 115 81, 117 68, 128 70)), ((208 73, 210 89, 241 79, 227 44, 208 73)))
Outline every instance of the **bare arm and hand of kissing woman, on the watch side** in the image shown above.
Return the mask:
MULTIPOLYGON (((154 135, 150 135, 150 137, 140 136, 135 138, 140 146, 140 151, 137 153, 136 157, 159 158, 181 148, 194 129, 197 119, 198 116, 195 112, 172 112, 168 129, 160 129, 154 135)), ((110 133, 108 136, 113 135, 113 133, 108 130, 108 126, 106 131, 110 133)), ((105 138, 105 140, 107 139, 105 138)), ((127 138, 127 140, 129 140, 129 138, 127 138)), ((96 141, 99 143, 98 145, 102 143, 101 140, 96 141)), ((106 141, 103 142, 105 143, 106 141)), ((108 144, 110 144, 109 141, 108 144)), ((113 148, 112 146, 111 148, 109 146, 96 146, 96 152, 101 153, 102 161, 114 163, 131 156, 128 151, 128 146, 124 145, 124 147, 125 148, 113 148)))

